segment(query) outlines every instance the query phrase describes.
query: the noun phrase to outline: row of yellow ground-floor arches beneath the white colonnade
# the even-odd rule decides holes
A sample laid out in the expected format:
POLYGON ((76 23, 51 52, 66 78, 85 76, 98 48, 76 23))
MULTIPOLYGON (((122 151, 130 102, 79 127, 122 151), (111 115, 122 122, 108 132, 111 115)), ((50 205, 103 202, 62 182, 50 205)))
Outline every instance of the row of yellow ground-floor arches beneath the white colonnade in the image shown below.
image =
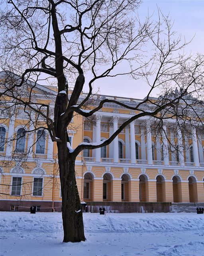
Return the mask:
POLYGON ((155 179, 149 179, 145 173, 137 179, 129 173, 114 178, 111 172, 96 177, 87 171, 82 194, 85 202, 204 202, 204 178, 198 180, 189 175, 184 180, 174 174, 167 180, 163 174, 157 174, 155 179))

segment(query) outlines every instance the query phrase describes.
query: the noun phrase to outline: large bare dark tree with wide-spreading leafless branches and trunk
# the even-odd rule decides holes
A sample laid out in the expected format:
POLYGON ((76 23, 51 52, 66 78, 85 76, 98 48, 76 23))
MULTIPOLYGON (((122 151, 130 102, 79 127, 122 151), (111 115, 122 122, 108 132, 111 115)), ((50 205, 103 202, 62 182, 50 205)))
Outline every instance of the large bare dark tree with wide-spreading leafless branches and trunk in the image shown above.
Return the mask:
MULTIPOLYGON (((159 120, 162 127, 168 118, 189 120, 189 111, 192 120, 203 114, 198 116, 195 106, 202 104, 204 58, 182 52, 186 42, 176 37, 168 16, 159 12, 157 22, 148 17, 141 22, 139 4, 139 0, 9 0, 1 11, 1 66, 6 79, 1 82, 0 101, 3 108, 12 106, 15 111, 20 104, 25 112, 43 117, 43 129, 57 142, 64 242, 85 240, 75 180, 75 159, 82 150, 110 144, 125 126, 143 116, 159 120), (117 72, 118 67, 124 71, 117 72), (80 100, 84 74, 90 77, 89 92, 80 100), (93 83, 119 75, 143 78, 149 85, 145 99, 126 104, 99 98, 92 104, 93 83), (57 86, 54 121, 49 104, 37 104, 33 97, 41 80, 57 86), (176 87, 179 93, 173 91, 176 87), (155 90, 160 91, 158 98, 151 97, 155 90), (81 143, 72 149, 67 126, 74 113, 90 118, 106 102, 135 114, 100 144, 81 143)), ((37 129, 34 123, 31 131, 37 129)))

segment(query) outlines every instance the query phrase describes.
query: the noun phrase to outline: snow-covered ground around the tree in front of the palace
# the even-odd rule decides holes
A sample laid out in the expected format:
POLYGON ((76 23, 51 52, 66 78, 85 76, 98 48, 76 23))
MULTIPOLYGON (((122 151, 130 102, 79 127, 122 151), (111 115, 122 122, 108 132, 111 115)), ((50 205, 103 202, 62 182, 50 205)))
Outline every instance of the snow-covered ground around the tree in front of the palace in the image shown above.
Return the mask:
POLYGON ((204 214, 84 214, 86 241, 63 243, 61 213, 0 212, 0 256, 204 255, 204 214))

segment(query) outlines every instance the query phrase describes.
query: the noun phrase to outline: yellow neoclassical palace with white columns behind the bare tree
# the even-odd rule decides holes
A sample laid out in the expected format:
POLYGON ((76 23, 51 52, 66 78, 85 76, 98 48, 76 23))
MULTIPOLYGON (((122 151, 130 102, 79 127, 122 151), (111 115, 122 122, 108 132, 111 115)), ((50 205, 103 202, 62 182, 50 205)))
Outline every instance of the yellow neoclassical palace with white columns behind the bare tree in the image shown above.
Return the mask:
MULTIPOLYGON (((53 108, 55 87, 37 85, 35 93, 53 108)), ((81 94, 84 97, 86 94, 81 94)), ((107 95, 93 97, 131 106, 141 102, 107 95)), ((107 103, 92 121, 74 116, 68 127, 72 148, 81 142, 108 138, 133 114, 107 103)), ((24 130, 32 130, 28 121, 21 108, 10 120, 0 117, 0 210, 27 211, 37 206, 40 211, 61 211, 57 146, 41 130, 33 136, 24 135, 24 130), (17 139, 12 141, 14 137, 17 139), (26 162, 18 158, 18 154, 28 151, 26 162)), ((110 206, 115 202, 204 202, 204 134, 192 128, 182 136, 177 127, 175 120, 168 120, 163 133, 157 135, 154 124, 140 118, 109 146, 81 152, 76 160, 81 202, 110 202, 110 206), (176 146, 179 150, 175 150, 176 146)))

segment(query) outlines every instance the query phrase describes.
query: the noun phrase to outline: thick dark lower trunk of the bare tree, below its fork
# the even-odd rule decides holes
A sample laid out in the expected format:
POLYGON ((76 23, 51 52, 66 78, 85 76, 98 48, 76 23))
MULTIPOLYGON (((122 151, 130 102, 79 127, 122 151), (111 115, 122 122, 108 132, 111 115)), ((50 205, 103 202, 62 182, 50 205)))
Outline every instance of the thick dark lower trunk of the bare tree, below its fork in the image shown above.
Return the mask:
POLYGON ((57 146, 62 191, 63 242, 85 241, 83 216, 75 177, 76 157, 68 152, 67 144, 57 146))

